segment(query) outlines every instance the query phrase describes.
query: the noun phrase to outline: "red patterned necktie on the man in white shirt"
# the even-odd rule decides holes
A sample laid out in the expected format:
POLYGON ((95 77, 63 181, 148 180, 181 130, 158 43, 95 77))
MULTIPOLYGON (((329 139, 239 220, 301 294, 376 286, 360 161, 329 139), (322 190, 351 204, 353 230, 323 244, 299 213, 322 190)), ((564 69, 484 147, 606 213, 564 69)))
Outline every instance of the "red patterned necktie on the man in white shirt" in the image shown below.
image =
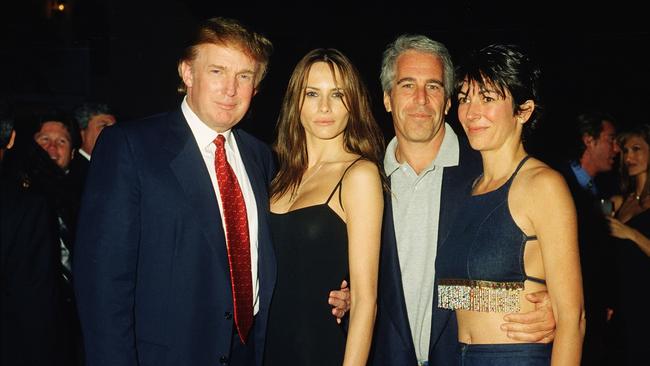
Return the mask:
POLYGON ((226 246, 230 264, 232 298, 235 306, 235 326, 242 343, 253 325, 253 280, 248 234, 246 204, 237 177, 226 159, 225 138, 218 135, 214 140, 217 151, 214 166, 219 182, 219 194, 226 222, 226 246))

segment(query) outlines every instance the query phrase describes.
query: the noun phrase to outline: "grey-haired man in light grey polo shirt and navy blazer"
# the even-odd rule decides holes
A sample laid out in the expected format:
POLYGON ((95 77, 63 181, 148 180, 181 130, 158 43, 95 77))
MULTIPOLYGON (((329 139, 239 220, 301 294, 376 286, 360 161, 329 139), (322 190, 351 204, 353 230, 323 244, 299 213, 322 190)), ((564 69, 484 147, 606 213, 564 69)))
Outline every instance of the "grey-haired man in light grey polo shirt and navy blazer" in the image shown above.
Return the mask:
MULTIPOLYGON (((398 37, 384 52, 384 106, 395 138, 384 169, 385 197, 378 310, 371 365, 455 365, 453 313, 438 309, 435 258, 466 187, 481 172, 479 155, 445 117, 454 68, 447 48, 420 35, 398 37)), ((549 342, 555 321, 545 293, 529 298, 538 309, 508 314, 504 331, 522 341, 549 342)))

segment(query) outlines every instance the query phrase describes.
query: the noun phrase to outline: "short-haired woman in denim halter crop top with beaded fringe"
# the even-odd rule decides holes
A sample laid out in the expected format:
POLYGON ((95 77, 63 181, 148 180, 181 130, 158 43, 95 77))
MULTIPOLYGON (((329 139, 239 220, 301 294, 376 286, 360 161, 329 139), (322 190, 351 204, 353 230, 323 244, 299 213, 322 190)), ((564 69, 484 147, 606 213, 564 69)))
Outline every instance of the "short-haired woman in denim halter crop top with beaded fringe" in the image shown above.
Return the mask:
POLYGON ((579 365, 585 323, 576 213, 559 173, 531 158, 522 133, 540 105, 539 68, 516 46, 487 46, 459 70, 458 119, 483 173, 438 248, 438 306, 454 310, 460 359, 474 365, 579 365), (521 343, 500 329, 547 289, 553 344, 521 343))

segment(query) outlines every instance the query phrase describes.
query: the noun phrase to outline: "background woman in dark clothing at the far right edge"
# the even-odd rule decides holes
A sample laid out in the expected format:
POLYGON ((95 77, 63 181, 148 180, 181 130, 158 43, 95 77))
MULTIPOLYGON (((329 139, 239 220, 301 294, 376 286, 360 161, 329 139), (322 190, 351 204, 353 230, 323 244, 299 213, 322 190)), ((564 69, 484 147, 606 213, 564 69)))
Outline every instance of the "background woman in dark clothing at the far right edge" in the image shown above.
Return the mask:
MULTIPOLYGON (((616 238, 609 248, 615 258, 615 285, 608 346, 613 351, 611 364, 641 365, 650 359, 650 316, 639 298, 639 290, 647 288, 650 279, 650 125, 630 128, 620 134, 618 143, 621 194, 612 197, 614 216, 607 217, 616 238)), ((611 261, 607 268, 612 268, 611 261)))

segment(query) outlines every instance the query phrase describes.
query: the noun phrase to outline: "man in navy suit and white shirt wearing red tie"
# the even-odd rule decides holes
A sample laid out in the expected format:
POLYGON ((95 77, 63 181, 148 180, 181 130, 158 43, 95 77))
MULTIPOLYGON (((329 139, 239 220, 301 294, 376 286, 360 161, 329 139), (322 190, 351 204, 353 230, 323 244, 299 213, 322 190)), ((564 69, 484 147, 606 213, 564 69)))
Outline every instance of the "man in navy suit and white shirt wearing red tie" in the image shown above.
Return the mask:
POLYGON ((271 51, 238 22, 210 19, 179 62, 180 108, 102 132, 74 261, 88 365, 261 365, 276 272, 267 222, 273 161, 264 143, 235 126, 271 51), (234 324, 218 135, 248 219, 250 332, 234 324))

